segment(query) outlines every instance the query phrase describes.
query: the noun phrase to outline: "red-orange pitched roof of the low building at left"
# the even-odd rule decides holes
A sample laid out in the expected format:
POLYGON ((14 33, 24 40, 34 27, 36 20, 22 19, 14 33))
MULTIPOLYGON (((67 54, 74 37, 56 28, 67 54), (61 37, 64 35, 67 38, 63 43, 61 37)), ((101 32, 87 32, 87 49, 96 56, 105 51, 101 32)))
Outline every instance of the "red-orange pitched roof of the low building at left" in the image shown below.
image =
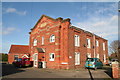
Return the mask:
POLYGON ((28 54, 29 46, 28 45, 11 45, 9 53, 28 54))

